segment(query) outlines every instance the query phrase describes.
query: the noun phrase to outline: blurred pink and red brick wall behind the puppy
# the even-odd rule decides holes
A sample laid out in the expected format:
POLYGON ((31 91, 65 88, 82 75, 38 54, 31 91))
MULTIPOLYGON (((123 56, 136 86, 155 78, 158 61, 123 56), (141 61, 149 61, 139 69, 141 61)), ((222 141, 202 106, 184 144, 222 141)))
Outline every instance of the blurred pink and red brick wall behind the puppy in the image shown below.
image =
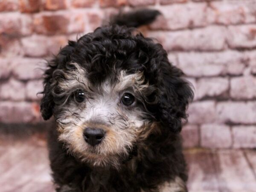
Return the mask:
POLYGON ((42 122, 44 60, 119 6, 163 16, 157 38, 195 87, 186 147, 256 147, 256 0, 0 0, 0 122, 42 122))

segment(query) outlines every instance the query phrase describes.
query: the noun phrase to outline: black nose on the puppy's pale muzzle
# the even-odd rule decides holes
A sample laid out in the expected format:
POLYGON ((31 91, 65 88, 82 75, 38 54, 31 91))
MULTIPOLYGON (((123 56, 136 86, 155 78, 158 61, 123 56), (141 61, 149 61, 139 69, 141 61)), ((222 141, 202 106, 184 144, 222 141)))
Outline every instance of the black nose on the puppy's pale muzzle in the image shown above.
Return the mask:
POLYGON ((99 128, 85 128, 84 140, 92 146, 98 145, 102 142, 105 131, 99 128))

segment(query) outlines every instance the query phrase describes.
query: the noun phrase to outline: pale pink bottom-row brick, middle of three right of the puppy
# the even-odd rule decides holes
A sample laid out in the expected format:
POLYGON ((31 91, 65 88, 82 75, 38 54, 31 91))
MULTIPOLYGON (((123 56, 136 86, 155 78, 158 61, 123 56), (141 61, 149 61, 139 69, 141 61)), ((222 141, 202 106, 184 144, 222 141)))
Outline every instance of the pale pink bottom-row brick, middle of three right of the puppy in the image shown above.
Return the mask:
POLYGON ((201 146, 206 148, 230 148, 232 137, 227 125, 207 124, 201 126, 201 146))

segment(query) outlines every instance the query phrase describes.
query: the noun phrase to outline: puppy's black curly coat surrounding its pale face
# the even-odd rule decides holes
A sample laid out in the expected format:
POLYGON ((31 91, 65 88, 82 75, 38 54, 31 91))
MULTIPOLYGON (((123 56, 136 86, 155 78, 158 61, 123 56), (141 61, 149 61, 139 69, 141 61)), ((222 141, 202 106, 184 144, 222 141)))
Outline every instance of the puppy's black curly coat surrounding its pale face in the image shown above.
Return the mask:
MULTIPOLYGON (((143 118, 155 125, 155 131, 142 134, 143 139, 133 143, 132 155, 125 156, 116 169, 82 162, 68 152, 53 128, 49 158, 57 191, 158 192, 163 183, 176 177, 183 182, 187 180, 179 132, 193 97, 192 90, 182 79, 183 72, 170 64, 162 45, 140 33, 132 35, 133 30, 111 24, 97 28, 78 41, 69 41, 45 71, 41 113, 46 120, 54 115, 58 124, 58 117, 63 110, 68 110, 64 105, 73 93, 61 89, 60 84, 74 78, 68 76, 77 69, 74 63, 86 72, 87 80, 94 86, 106 79, 116 81, 120 71, 128 75, 139 72, 143 74, 143 84, 147 84, 140 99, 148 114, 143 118)), ((75 79, 81 84, 87 83, 75 79)), ((72 91, 78 88, 72 87, 72 91)))

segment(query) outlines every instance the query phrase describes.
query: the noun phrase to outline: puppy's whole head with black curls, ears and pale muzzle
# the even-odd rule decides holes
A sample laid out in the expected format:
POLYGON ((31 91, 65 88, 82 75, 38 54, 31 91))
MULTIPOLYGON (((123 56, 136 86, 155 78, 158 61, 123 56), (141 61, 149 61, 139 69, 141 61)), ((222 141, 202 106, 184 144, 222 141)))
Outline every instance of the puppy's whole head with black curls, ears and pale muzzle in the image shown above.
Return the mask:
POLYGON ((179 132, 193 93, 166 51, 131 29, 106 26, 49 62, 41 112, 58 139, 94 166, 118 166, 150 134, 179 132))

